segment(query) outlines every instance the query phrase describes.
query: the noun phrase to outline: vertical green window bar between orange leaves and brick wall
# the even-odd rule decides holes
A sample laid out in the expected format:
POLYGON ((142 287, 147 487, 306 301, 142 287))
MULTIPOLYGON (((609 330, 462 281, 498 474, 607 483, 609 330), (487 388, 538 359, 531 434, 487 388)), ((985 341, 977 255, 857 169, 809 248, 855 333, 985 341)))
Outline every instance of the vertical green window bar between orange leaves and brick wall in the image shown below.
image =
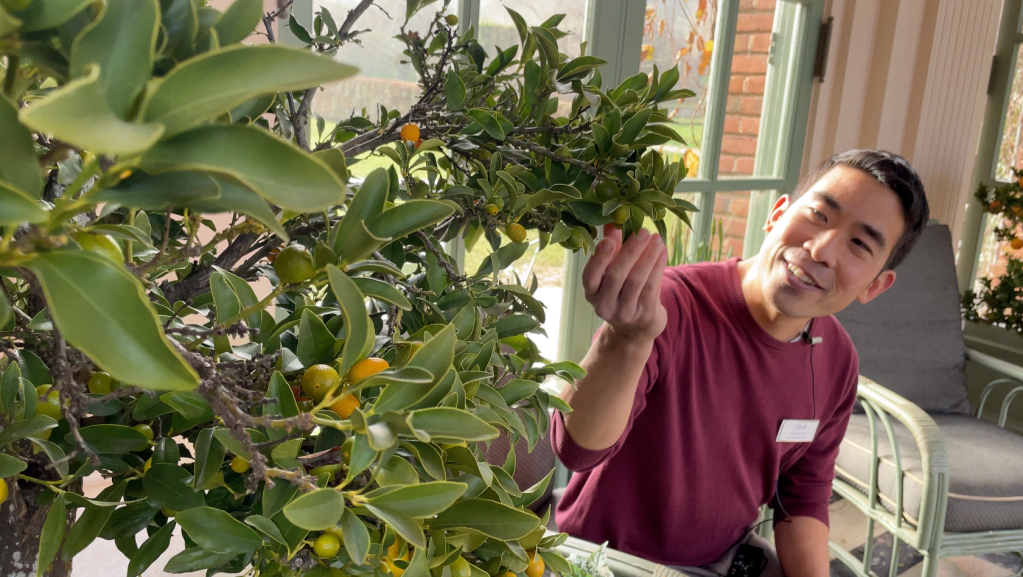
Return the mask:
MULTIPOLYGON (((739 0, 722 0, 718 7, 714 30, 714 53, 710 62, 710 95, 707 98, 707 115, 704 117, 703 151, 700 159, 700 178, 717 181, 718 165, 721 157, 721 136, 724 133, 724 115, 728 100, 728 78, 731 76, 731 53, 736 44, 736 26, 739 21, 739 0)), ((710 241, 711 225, 714 222, 715 193, 711 189, 700 195, 697 206, 700 212, 694 219, 694 239, 691 243, 691 258, 696 258, 697 248, 710 241)))

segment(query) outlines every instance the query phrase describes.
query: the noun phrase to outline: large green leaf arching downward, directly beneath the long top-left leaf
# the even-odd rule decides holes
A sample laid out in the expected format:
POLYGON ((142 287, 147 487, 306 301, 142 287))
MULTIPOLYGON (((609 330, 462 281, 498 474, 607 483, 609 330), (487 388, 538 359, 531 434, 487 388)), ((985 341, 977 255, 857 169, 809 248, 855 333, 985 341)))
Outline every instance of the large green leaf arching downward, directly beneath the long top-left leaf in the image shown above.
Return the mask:
MULTIPOLYGON (((151 173, 199 170, 223 175, 300 213, 341 204, 345 194, 344 185, 322 161, 252 126, 212 125, 179 134, 146 152, 141 167, 151 173)), ((223 185, 221 194, 226 195, 223 185)))

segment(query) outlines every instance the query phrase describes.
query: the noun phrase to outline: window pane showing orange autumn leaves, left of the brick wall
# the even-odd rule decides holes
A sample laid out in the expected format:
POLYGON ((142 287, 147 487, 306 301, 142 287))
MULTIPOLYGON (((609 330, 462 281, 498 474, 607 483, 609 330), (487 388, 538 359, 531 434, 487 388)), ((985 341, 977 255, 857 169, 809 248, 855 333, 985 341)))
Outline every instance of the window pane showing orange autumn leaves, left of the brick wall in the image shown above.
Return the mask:
MULTIPOLYGON (((665 102, 675 130, 685 140, 685 145, 670 142, 662 147, 672 160, 687 149, 691 159, 699 159, 716 18, 717 0, 647 0, 639 70, 650 75, 655 65, 659 73, 677 65, 675 87, 696 92, 692 98, 665 102)), ((696 166, 693 161, 687 164, 696 166)), ((688 177, 696 176, 691 170, 688 177)))

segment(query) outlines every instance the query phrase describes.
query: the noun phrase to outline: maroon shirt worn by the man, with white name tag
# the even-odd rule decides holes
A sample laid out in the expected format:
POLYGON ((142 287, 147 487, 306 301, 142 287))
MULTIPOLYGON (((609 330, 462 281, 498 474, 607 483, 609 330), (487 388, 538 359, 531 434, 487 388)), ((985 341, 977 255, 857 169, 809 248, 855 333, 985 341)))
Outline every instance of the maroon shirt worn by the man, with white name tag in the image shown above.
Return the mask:
POLYGON ((664 565, 706 565, 773 500, 775 482, 790 516, 828 524, 856 351, 835 317, 814 319, 809 334, 824 342, 813 347, 811 376, 810 345, 777 341, 753 318, 737 263, 665 271, 668 324, 614 446, 580 447, 555 413, 554 452, 576 472, 558 504, 560 530, 664 565), (775 441, 784 419, 814 418, 814 410, 811 443, 775 441))

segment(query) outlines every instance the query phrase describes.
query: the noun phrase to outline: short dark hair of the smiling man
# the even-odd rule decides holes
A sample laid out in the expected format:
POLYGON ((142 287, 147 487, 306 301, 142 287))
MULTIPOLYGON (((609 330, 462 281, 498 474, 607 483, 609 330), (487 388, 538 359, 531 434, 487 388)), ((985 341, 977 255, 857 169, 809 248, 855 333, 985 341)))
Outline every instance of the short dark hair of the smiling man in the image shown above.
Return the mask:
POLYGON ((920 175, 905 159, 884 150, 846 150, 825 161, 820 166, 804 176, 795 190, 792 199, 799 198, 831 169, 838 165, 847 166, 865 172, 879 184, 894 192, 902 204, 902 218, 905 229, 902 236, 892 249, 891 256, 885 264, 885 270, 898 266, 909 255, 924 232, 931 210, 924 194, 924 184, 920 175))

